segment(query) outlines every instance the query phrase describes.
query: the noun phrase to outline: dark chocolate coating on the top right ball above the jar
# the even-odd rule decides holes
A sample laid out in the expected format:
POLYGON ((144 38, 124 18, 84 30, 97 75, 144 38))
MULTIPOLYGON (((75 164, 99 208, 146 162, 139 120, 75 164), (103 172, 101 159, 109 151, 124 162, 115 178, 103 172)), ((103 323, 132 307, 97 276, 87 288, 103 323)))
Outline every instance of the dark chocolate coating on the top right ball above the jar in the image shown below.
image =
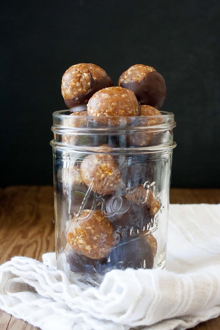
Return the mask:
POLYGON ((133 82, 122 82, 121 87, 131 89, 141 104, 150 105, 159 110, 166 98, 166 84, 163 76, 157 71, 149 72, 144 79, 133 82))

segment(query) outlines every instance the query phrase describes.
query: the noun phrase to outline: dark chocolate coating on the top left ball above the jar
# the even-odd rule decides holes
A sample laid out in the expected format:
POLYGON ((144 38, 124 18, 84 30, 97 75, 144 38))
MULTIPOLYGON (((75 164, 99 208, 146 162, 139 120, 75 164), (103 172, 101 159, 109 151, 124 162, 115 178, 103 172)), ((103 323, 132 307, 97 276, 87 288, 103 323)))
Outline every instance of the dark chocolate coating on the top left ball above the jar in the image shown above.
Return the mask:
POLYGON ((69 100, 64 100, 65 104, 69 109, 78 107, 80 105, 86 105, 93 94, 98 90, 113 86, 111 78, 107 75, 100 79, 94 80, 91 72, 88 70, 90 78, 90 88, 86 93, 79 93, 77 96, 70 98, 69 100))

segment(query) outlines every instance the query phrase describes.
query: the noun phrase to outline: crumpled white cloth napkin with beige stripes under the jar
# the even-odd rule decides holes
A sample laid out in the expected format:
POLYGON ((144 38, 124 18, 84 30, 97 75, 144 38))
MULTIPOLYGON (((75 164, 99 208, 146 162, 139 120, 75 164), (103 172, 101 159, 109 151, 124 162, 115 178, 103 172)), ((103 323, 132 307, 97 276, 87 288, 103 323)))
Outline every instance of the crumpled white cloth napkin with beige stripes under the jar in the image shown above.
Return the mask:
POLYGON ((113 270, 99 288, 14 257, 0 266, 0 308, 43 330, 187 329, 220 314, 220 204, 171 205, 166 270, 113 270), (136 328, 137 327, 137 328, 136 328))

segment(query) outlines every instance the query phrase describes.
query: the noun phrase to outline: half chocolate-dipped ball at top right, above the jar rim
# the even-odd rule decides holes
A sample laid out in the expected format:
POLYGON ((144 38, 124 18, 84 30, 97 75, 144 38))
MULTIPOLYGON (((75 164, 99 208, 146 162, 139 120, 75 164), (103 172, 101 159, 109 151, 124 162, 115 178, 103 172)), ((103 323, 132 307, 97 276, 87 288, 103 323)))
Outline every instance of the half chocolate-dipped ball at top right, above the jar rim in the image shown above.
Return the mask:
POLYGON ((118 86, 133 90, 141 104, 160 109, 166 98, 164 78, 152 67, 135 64, 122 73, 118 86))

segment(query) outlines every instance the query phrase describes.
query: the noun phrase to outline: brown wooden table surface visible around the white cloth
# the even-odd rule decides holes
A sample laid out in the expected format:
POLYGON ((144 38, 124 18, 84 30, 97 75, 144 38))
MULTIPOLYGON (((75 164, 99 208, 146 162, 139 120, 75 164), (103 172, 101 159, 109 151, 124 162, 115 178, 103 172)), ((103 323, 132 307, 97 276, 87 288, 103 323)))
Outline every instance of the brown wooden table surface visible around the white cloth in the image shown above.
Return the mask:
MULTIPOLYGON (((220 203, 220 189, 171 189, 173 204, 220 203)), ((12 256, 41 260, 55 250, 52 186, 11 186, 0 189, 0 264, 12 256)), ((37 330, 23 320, 0 311, 1 330, 37 330)), ((195 330, 220 329, 220 316, 200 323, 195 330)), ((63 329, 65 330, 65 329, 63 329)))

